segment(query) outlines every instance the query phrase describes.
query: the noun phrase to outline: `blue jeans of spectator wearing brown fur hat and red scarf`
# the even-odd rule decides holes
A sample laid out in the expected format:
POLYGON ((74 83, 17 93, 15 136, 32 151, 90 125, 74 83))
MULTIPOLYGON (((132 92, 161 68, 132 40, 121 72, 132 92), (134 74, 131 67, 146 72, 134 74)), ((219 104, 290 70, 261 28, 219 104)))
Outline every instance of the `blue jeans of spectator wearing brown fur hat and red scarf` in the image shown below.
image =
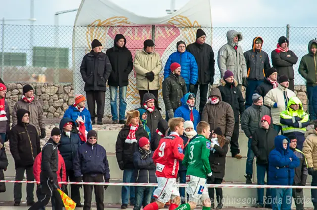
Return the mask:
MULTIPOLYGON (((123 182, 125 182, 125 183, 135 182, 134 169, 124 169, 123 170, 123 182)), ((130 190, 130 202, 134 203, 135 188, 131 187, 131 186, 122 186, 122 190, 121 190, 122 204, 129 203, 129 190, 130 190)))

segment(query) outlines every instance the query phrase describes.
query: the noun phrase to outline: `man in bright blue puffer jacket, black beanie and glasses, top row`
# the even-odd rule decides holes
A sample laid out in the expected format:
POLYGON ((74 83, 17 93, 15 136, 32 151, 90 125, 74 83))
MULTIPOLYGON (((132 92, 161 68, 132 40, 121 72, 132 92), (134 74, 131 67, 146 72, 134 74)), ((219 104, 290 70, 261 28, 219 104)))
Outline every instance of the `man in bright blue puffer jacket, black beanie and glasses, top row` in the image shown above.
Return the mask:
POLYGON ((164 69, 164 79, 170 75, 170 65, 172 63, 179 63, 181 66, 180 75, 185 79, 186 88, 188 92, 194 93, 195 85, 198 80, 198 67, 195 57, 186 51, 186 43, 178 41, 176 44, 177 51, 172 53, 166 62, 164 69))

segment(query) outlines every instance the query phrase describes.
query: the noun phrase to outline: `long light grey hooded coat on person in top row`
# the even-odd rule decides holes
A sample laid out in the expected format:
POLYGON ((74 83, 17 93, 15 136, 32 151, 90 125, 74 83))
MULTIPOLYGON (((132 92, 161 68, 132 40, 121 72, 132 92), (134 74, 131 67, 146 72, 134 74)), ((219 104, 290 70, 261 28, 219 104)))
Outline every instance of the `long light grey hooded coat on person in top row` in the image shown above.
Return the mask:
POLYGON ((233 42, 235 36, 242 40, 240 32, 231 30, 227 32, 228 43, 223 45, 218 52, 218 66, 220 69, 221 77, 224 76, 226 70, 232 71, 234 78, 238 84, 242 84, 242 78, 247 77, 246 60, 243 55, 242 48, 233 42), (237 46, 237 50, 234 47, 237 46))

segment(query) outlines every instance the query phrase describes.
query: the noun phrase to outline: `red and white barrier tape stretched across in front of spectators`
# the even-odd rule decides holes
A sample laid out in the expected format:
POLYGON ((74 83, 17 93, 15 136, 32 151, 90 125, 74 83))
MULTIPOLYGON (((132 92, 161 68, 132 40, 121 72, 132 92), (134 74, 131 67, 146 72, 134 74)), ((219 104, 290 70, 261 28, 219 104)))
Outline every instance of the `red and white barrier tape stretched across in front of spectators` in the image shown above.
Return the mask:
MULTIPOLYGON (((0 180, 5 183, 37 183, 36 181, 14 181, 0 180)), ((123 183, 123 182, 59 182, 59 184, 79 184, 79 185, 109 185, 109 186, 145 186, 157 187, 157 183, 123 183)), ((186 187, 187 184, 177 184, 177 187, 186 187)), ((246 184, 207 184, 207 187, 218 188, 303 188, 317 189, 317 186, 294 186, 294 185, 246 185, 246 184)))

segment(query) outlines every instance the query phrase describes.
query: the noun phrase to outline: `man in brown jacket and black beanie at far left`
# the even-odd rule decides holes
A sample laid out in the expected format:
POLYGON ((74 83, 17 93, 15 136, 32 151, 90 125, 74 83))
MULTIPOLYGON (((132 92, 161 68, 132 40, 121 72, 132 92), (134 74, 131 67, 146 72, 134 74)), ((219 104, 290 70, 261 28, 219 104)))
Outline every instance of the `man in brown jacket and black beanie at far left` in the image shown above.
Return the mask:
POLYGON ((30 112, 30 124, 33 125, 41 139, 45 138, 45 124, 43 118, 43 108, 39 100, 34 98, 34 88, 26 84, 23 86, 23 95, 17 101, 13 108, 12 113, 12 128, 17 124, 17 111, 21 108, 30 112))

